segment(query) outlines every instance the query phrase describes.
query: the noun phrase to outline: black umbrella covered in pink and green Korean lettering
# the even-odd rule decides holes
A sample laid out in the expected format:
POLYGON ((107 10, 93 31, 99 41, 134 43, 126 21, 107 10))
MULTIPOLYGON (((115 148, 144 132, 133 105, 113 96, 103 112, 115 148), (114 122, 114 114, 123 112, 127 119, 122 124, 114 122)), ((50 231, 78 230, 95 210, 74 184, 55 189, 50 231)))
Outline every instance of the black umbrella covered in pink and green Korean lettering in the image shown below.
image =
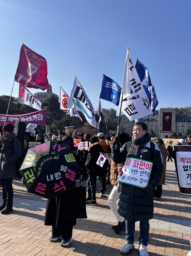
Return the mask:
POLYGON ((48 141, 27 151, 20 173, 28 192, 52 199, 73 189, 79 168, 71 147, 48 141))

